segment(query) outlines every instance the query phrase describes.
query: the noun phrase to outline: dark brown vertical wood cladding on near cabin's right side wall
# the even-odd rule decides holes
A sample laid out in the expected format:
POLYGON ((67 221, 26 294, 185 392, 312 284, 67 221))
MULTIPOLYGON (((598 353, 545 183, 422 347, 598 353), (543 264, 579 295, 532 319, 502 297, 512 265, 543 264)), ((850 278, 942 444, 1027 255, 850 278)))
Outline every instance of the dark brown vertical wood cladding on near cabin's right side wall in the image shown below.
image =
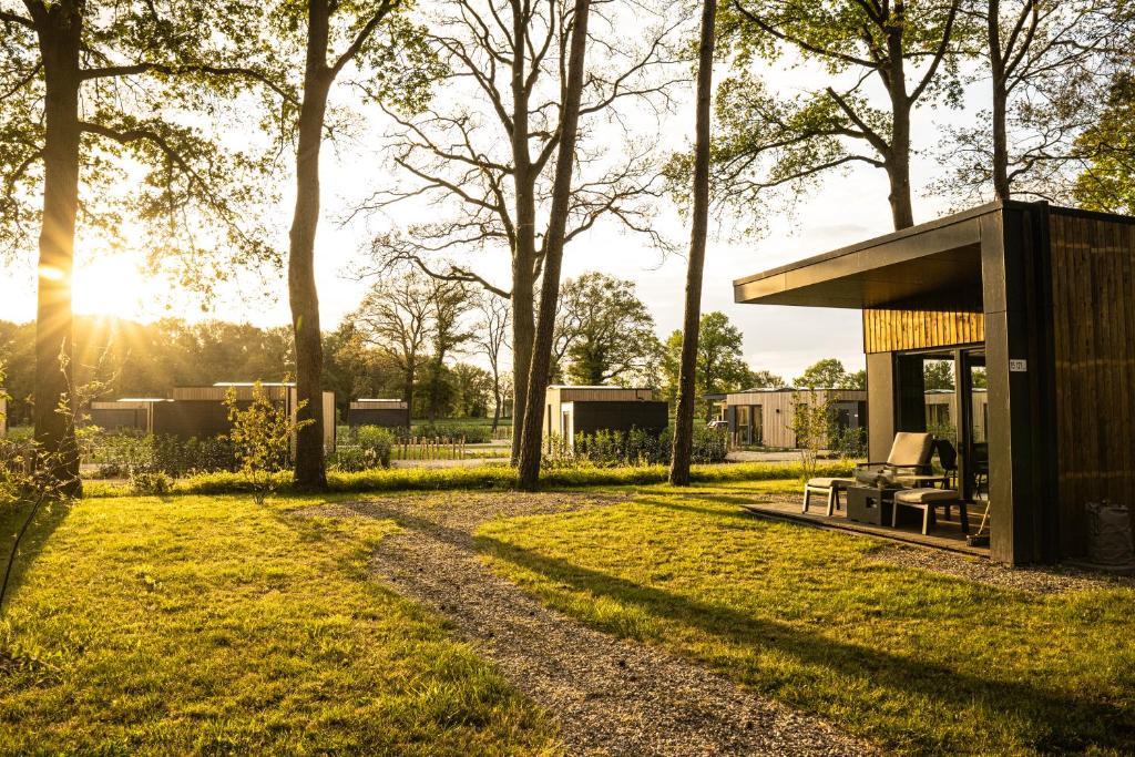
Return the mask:
POLYGON ((1084 503, 1135 507, 1135 225, 1050 216, 1060 547, 1084 549, 1084 503))

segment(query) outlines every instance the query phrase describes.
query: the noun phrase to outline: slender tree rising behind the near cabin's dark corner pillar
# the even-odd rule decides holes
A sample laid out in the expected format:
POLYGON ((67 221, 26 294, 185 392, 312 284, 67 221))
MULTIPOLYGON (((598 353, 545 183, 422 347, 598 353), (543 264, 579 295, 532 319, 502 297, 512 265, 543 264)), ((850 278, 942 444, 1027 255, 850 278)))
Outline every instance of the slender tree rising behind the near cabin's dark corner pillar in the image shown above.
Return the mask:
MULTIPOLYGON (((955 174, 935 185, 965 202, 1063 200, 1086 155, 1077 138, 1100 119, 1132 40, 1126 0, 982 0, 990 110, 955 129, 942 153, 955 174)), ((1082 146, 1082 145, 1081 145, 1082 146)))

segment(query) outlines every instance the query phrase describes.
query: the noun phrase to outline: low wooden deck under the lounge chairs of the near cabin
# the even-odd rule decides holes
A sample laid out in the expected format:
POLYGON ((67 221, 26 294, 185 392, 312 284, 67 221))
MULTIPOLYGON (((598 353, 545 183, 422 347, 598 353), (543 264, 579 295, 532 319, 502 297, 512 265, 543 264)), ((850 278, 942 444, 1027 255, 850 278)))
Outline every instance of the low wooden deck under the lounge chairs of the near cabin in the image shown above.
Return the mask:
MULTIPOLYGON (((961 524, 958 522, 958 513, 953 513, 953 520, 947 521, 939 518, 938 525, 930 533, 923 536, 919 525, 903 525, 901 522, 898 528, 891 528, 890 525, 872 525, 869 523, 858 523, 856 521, 849 521, 844 518, 844 511, 838 510, 835 514, 831 518, 825 515, 826 503, 822 497, 814 497, 812 499, 812 505, 808 507, 807 513, 800 512, 800 505, 804 502, 804 495, 773 495, 768 497, 762 497, 751 504, 742 505, 742 508, 757 515, 759 518, 772 518, 776 520, 791 521, 793 523, 804 523, 807 525, 815 525, 818 528, 826 529, 838 529, 841 531, 851 531, 854 533, 863 533, 866 536, 873 536, 881 539, 889 539, 891 541, 901 541, 905 544, 914 544, 922 547, 933 547, 935 549, 949 549, 950 552, 958 552, 966 555, 974 555, 976 557, 989 557, 989 547, 970 547, 966 544, 966 538, 961 533, 961 524)), ((842 502, 841 502, 842 504, 842 502)), ((969 531, 973 533, 977 530, 977 525, 981 523, 981 510, 970 507, 969 510, 969 531)), ((911 520, 915 520, 917 513, 908 514, 911 520)), ((900 514, 900 518, 902 515, 900 514)), ((920 515, 917 519, 920 522, 920 515)))

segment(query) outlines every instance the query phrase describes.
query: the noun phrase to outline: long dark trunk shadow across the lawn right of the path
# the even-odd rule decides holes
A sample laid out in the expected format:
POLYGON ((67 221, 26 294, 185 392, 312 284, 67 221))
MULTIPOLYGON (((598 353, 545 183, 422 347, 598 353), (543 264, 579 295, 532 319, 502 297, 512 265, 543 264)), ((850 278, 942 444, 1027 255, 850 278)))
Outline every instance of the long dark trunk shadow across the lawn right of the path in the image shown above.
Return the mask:
MULTIPOLYGON (((409 525, 409 524, 407 524, 409 525)), ((413 525, 409 525, 413 528, 413 525)), ((960 672, 947 665, 888 651, 881 645, 866 648, 834 639, 809 634, 787 623, 756 619, 729 607, 698 602, 670 591, 647 587, 581 567, 564 560, 548 557, 493 537, 476 539, 479 550, 547 577, 558 583, 591 595, 605 596, 632 604, 658 617, 688 625, 740 647, 760 647, 787 655, 808 666, 826 667, 839 676, 863 679, 869 687, 872 701, 852 703, 877 707, 880 689, 893 689, 925 697, 930 706, 924 715, 957 717, 976 707, 981 713, 1010 712, 1025 722, 1018 738, 1041 751, 1082 751, 1090 747, 1111 747, 1121 751, 1135 748, 1135 713, 1103 701, 1070 696, 1058 690, 1027 683, 999 680, 997 671, 989 676, 960 672)), ((603 630, 612 631, 611 628, 603 630)), ((792 688, 815 685, 793 681, 792 688)), ((850 690, 850 688, 849 688, 850 690)), ((791 691, 788 699, 800 701, 791 691)), ((901 717, 917 716, 905 713, 901 717)), ((990 718, 993 724, 993 718, 990 718)), ((908 727, 908 726, 902 726, 908 727)), ((875 737, 886 734, 874 733, 875 737)), ((890 738, 897 740, 897 731, 890 738)), ((941 743, 932 732, 902 733, 906 747, 917 751, 966 751, 975 745, 941 743), (913 739, 915 743, 909 743, 913 739)), ((977 747, 981 748, 981 747, 977 747)))

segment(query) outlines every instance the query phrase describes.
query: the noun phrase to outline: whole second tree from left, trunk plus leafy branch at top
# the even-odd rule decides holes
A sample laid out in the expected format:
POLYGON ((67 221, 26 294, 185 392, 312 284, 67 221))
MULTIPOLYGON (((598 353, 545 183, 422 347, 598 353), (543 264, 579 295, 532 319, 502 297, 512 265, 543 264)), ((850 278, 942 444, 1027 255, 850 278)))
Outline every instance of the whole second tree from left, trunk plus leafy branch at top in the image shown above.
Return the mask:
MULTIPOLYGON (((316 289, 316 232, 319 225, 319 154, 323 142, 328 99, 336 78, 350 65, 370 58, 368 75, 372 85, 367 91, 380 102, 412 107, 428 90, 432 69, 422 66, 412 75, 398 76, 390 70, 411 53, 418 30, 401 15, 409 1, 338 2, 308 0, 306 42, 303 73, 303 100, 300 104, 296 144, 296 196, 288 247, 288 302, 295 330, 296 393, 301 403, 297 412, 301 426, 295 444, 295 482, 304 489, 327 486, 322 439, 322 334, 319 326, 319 293, 316 289), (342 37, 345 48, 331 54, 334 39, 342 37), (389 61, 395 61, 392 65, 389 61)), ((285 3, 284 12, 294 12, 285 3)))

